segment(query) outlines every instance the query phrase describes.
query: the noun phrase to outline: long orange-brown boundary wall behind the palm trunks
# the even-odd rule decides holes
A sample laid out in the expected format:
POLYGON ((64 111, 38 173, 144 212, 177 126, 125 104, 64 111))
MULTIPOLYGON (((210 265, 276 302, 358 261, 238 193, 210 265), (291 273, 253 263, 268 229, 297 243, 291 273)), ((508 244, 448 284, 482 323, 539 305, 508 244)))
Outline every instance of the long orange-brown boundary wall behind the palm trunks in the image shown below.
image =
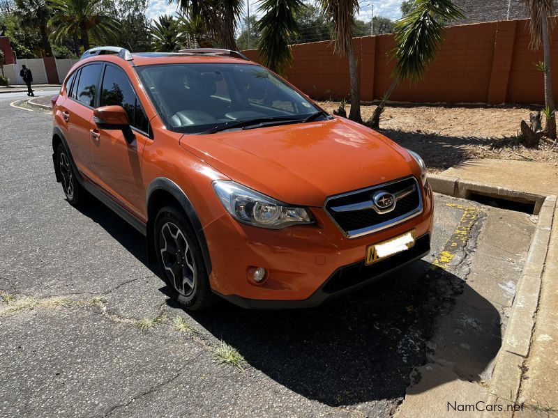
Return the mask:
MULTIPOLYGON (((543 75, 534 63, 542 50, 531 51, 526 20, 451 26, 437 59, 418 84, 405 83, 391 100, 448 103, 544 103, 543 75)), ((558 23, 558 22, 557 22, 558 23)), ((552 40, 552 66, 558 72, 558 24, 552 40)), ((391 83, 392 35, 354 38, 362 100, 379 100, 391 83)), ((316 99, 349 96, 346 58, 333 54, 329 41, 293 46, 287 79, 316 99)), ((244 52, 257 61, 255 50, 244 52)), ((558 96, 558 75, 555 95, 558 96)))

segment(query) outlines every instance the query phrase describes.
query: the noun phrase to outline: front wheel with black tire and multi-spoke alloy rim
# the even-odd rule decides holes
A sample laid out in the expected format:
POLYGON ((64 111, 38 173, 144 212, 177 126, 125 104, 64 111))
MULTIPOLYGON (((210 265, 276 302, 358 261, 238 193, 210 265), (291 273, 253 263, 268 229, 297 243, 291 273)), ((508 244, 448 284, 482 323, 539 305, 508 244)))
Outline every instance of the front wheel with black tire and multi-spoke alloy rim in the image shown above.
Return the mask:
POLYGON ((153 233, 161 276, 184 308, 199 311, 210 307, 211 292, 197 236, 183 211, 174 206, 159 210, 153 233))

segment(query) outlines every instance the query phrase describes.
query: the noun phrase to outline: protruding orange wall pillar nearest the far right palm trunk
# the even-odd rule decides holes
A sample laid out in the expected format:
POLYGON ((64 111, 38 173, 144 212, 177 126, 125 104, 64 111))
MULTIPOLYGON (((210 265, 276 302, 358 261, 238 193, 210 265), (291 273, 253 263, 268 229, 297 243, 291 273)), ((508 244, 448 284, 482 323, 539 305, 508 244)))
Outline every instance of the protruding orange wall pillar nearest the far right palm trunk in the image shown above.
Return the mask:
POLYGON ((515 20, 496 22, 492 70, 486 97, 489 104, 502 104, 507 100, 517 26, 518 22, 515 20))

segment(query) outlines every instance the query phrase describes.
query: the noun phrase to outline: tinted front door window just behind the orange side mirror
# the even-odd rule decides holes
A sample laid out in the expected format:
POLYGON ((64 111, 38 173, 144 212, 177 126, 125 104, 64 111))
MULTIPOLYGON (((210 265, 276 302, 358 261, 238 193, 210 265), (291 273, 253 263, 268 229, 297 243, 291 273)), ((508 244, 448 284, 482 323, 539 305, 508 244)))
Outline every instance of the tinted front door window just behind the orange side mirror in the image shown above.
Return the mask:
POLYGON ((100 106, 113 105, 119 105, 126 110, 130 125, 147 132, 147 118, 128 77, 118 68, 107 65, 100 93, 100 106))

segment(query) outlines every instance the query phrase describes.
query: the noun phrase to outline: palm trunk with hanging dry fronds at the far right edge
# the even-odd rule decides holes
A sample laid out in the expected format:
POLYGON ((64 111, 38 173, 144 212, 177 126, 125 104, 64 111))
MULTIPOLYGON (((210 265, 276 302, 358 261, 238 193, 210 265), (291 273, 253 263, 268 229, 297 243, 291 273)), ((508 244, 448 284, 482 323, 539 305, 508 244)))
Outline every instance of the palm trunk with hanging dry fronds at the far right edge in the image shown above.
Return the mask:
POLYGON ((550 36, 548 34, 548 17, 554 16, 552 0, 522 0, 529 11, 529 31, 531 32, 531 48, 538 49, 543 44, 543 65, 545 75, 545 114, 546 134, 556 138, 556 118, 554 95, 552 95, 552 76, 550 73, 550 36))

